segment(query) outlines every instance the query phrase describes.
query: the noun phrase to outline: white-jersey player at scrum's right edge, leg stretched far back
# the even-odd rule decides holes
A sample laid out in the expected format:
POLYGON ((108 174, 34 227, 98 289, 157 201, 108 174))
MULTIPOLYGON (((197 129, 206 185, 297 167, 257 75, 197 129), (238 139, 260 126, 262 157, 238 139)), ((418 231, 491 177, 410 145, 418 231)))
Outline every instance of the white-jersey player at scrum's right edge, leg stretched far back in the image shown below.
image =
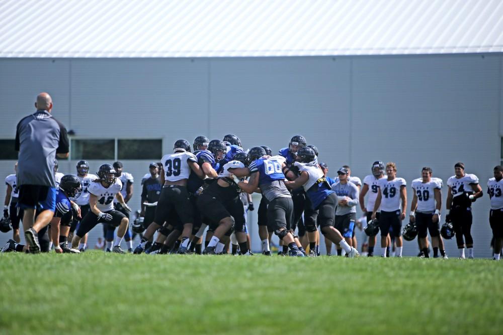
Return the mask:
MULTIPOLYGON (((333 243, 339 244, 348 254, 348 257, 358 256, 358 251, 350 247, 341 233, 333 228, 333 219, 336 214, 337 195, 331 190, 321 168, 311 163, 315 158, 314 151, 309 147, 302 147, 297 152, 294 165, 299 168, 300 175, 293 181, 285 182, 286 187, 295 189, 302 186, 311 200, 314 210, 319 210, 318 221, 321 234, 333 243)), ((294 174, 285 169, 286 174, 294 174)))

